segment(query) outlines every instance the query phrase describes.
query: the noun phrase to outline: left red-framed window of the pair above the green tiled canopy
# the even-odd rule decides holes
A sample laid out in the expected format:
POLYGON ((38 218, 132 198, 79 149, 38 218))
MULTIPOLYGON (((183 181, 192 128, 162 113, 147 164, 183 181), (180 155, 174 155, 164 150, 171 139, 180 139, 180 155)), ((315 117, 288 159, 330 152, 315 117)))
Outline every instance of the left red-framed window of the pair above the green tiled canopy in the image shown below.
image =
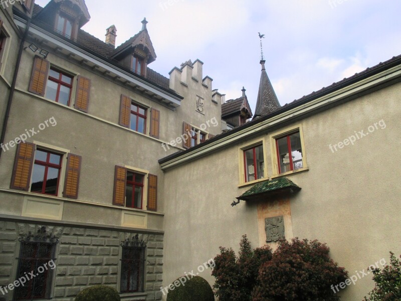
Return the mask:
POLYGON ((265 156, 263 145, 244 150, 245 182, 265 177, 265 156))

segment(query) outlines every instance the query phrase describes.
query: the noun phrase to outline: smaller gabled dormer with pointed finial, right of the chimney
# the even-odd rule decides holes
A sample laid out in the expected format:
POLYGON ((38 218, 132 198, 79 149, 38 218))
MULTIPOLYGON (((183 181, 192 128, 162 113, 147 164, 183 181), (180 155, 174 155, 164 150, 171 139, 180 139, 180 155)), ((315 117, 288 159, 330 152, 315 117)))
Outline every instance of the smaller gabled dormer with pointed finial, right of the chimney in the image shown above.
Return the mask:
POLYGON ((156 59, 156 53, 146 29, 146 18, 142 21, 142 30, 122 45, 118 46, 112 58, 132 71, 146 75, 147 65, 156 59))

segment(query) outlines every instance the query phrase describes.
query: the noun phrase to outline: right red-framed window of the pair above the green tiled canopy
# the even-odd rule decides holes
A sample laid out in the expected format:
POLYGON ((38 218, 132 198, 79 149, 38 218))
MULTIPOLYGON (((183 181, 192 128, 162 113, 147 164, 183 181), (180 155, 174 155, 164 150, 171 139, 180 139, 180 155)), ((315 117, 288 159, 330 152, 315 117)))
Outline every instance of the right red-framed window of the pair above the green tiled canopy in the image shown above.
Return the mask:
POLYGON ((276 148, 280 174, 303 168, 299 131, 277 138, 276 148))

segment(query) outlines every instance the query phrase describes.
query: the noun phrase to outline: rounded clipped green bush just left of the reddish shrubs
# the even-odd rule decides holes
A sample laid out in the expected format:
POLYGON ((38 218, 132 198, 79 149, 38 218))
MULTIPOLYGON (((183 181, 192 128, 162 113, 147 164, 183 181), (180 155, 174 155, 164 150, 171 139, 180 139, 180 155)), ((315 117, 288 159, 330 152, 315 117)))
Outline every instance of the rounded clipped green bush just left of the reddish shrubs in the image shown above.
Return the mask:
MULTIPOLYGON (((177 280, 179 281, 179 279, 177 280)), ((174 290, 169 290, 167 301, 215 301, 215 297, 208 281, 202 277, 194 276, 187 280, 184 285, 175 286, 174 290)))

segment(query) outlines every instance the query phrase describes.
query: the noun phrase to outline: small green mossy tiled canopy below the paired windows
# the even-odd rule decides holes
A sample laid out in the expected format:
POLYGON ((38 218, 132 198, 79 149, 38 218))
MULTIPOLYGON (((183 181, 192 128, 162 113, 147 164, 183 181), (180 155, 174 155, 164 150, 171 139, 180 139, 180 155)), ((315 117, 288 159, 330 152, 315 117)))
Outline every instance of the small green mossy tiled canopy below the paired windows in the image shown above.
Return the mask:
POLYGON ((299 191, 301 188, 294 184, 287 178, 278 178, 270 181, 264 181, 254 185, 251 189, 247 190, 237 199, 250 201, 260 199, 261 197, 268 197, 269 195, 279 192, 292 192, 299 191))

